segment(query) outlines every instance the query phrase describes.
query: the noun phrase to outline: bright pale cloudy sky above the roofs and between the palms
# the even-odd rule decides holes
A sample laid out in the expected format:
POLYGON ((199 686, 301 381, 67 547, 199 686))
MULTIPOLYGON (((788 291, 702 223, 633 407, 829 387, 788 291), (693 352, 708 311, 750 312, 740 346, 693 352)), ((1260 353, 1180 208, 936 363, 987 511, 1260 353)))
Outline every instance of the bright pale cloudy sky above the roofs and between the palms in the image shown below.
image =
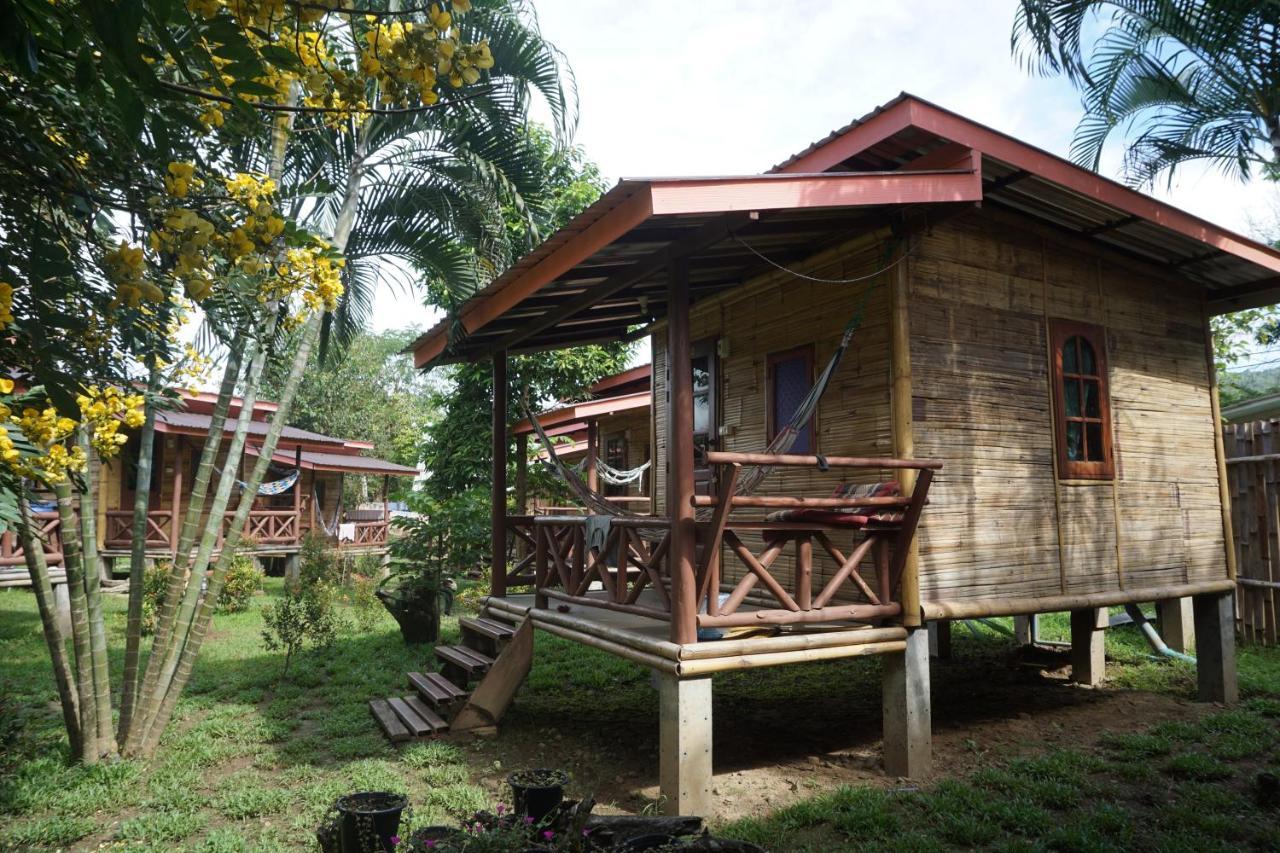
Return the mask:
MULTIPOLYGON (((1010 51, 1016 0, 532 0, 579 91, 575 141, 620 178, 754 174, 908 91, 1066 156, 1062 78, 1010 51)), ((1119 175, 1119 146, 1102 173, 1119 175)), ((1152 195, 1240 233, 1275 225, 1274 184, 1202 169, 1152 195)), ((404 293, 379 328, 429 325, 404 293)))

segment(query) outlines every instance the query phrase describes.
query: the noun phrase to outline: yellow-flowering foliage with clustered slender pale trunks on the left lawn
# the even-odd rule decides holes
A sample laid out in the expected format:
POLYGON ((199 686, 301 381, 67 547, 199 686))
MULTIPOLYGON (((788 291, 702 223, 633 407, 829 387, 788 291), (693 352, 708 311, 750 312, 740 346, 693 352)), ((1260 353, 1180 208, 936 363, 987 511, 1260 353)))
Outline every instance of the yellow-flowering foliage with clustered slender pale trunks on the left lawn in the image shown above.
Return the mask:
POLYGON ((493 224, 502 205, 536 204, 536 182, 520 172, 530 93, 541 92, 562 127, 568 99, 559 58, 520 0, 394 10, 140 0, 111 14, 76 0, 9 5, 0 145, 26 161, 0 159, 0 233, 15 237, 0 242, 0 346, 20 383, 0 384, 0 525, 23 539, 73 752, 87 762, 147 754, 207 634, 310 350, 323 330, 358 318, 379 259, 460 297, 492 275, 511 255, 493 224), (353 286, 364 296, 353 298, 353 286), (137 480, 148 482, 165 386, 207 366, 177 332, 189 311, 221 341, 219 396, 180 526, 175 519, 178 558, 150 653, 141 643, 150 489, 136 489, 113 725, 95 466, 120 464, 125 430, 137 430, 137 480), (301 345, 241 492, 214 461, 238 467, 282 333, 301 345), (243 405, 232 416, 237 388, 243 405), (59 503, 70 654, 27 517, 32 491, 59 503), (233 520, 220 543, 225 512, 233 520))

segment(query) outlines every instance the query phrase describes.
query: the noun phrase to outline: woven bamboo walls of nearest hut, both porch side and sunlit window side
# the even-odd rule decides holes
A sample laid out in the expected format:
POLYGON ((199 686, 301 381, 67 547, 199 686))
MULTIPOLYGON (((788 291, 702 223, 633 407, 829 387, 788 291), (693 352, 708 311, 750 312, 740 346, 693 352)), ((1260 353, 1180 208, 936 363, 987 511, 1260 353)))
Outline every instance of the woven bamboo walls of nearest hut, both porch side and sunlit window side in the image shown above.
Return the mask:
MULTIPOLYGON (((883 266, 886 233, 795 266, 847 278, 883 266)), ((1225 579, 1203 307, 1192 288, 992 210, 913 238, 908 260, 915 456, 937 457, 919 533, 924 602, 1155 590, 1225 579), (1055 473, 1047 320, 1106 329, 1114 482, 1055 473)), ((726 343, 721 450, 767 444, 772 352, 831 356, 860 286, 771 274, 694 306, 691 338, 726 343)), ((887 289, 873 297, 818 411, 818 451, 890 455, 887 289)), ((654 423, 666 457, 666 329, 653 341, 654 423)), ((662 512, 666 471, 655 471, 662 512)), ((826 496, 838 475, 774 471, 760 494, 826 496)), ((817 558, 817 553, 815 553, 817 558)), ((730 579, 740 574, 726 561, 730 579)), ((774 564, 780 580, 790 561, 774 564)), ((819 578, 829 562, 815 566, 819 578)), ((783 580, 788 583, 790 578, 783 580)), ((815 580, 815 583, 819 583, 815 580)))

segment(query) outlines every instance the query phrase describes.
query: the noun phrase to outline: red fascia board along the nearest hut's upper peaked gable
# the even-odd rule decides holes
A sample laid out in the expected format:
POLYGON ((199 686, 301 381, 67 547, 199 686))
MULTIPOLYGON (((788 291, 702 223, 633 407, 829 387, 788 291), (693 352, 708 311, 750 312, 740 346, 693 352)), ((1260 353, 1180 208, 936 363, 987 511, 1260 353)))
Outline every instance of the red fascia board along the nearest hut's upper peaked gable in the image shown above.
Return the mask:
POLYGON ((812 173, 829 169, 865 151, 895 133, 914 127, 951 142, 979 151, 989 158, 1025 169, 1034 175, 1093 199, 1101 204, 1169 228, 1224 252, 1280 272, 1280 252, 1235 234, 1172 205, 1146 196, 1137 190, 1089 172, 1043 149, 1020 142, 1011 136, 945 110, 941 106, 905 96, 884 111, 872 115, 827 145, 788 163, 780 173, 812 173))

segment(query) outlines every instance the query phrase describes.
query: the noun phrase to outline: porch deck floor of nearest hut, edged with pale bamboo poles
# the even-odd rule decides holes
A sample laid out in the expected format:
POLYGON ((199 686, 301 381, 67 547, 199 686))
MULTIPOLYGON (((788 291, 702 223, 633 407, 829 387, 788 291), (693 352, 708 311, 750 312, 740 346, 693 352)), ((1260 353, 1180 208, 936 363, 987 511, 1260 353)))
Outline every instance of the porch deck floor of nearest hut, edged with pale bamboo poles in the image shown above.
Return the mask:
MULTIPOLYGON (((589 598, 607 601, 608 593, 593 590, 589 598)), ((658 594, 645 590, 640 598, 658 606, 658 594)), ((532 593, 485 598, 490 610, 513 617, 529 616, 534 626, 557 637, 590 646, 611 654, 643 663, 676 678, 696 678, 713 672, 759 666, 804 663, 861 654, 887 654, 906 648, 906 629, 872 628, 856 624, 774 626, 767 634, 735 635, 724 639, 677 644, 671 642, 671 626, 648 616, 602 607, 557 602, 535 607, 532 593)), ((744 611, 760 610, 744 605, 744 611)))

